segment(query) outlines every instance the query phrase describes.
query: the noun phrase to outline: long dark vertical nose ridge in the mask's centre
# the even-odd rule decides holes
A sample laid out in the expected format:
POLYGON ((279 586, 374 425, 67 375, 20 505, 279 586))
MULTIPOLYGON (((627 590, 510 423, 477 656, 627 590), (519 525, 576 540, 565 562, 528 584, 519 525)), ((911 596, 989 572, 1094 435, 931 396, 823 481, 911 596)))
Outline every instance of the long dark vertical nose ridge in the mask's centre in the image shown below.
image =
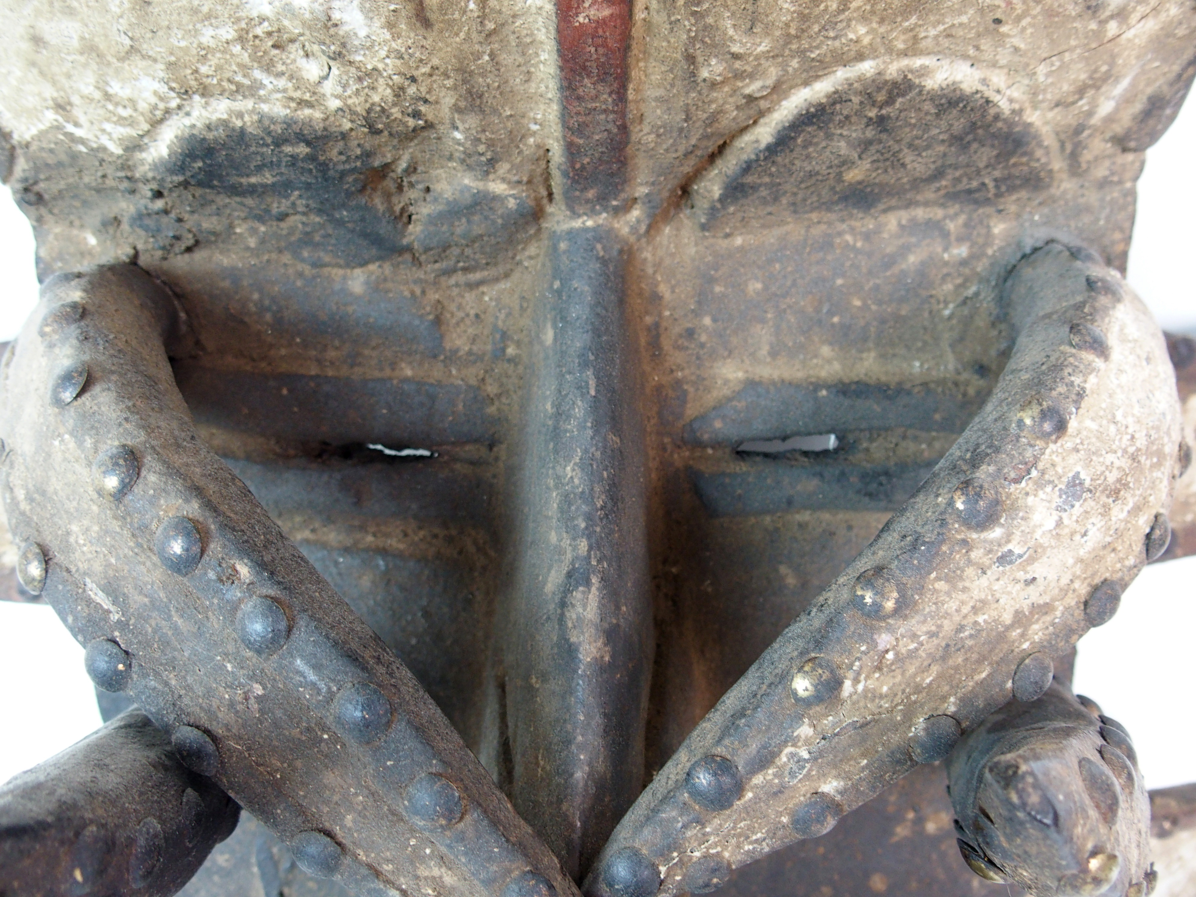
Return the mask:
POLYGON ((620 240, 603 227, 550 239, 496 643, 490 738, 506 744, 489 749, 515 808, 579 878, 642 787, 646 463, 620 240))

